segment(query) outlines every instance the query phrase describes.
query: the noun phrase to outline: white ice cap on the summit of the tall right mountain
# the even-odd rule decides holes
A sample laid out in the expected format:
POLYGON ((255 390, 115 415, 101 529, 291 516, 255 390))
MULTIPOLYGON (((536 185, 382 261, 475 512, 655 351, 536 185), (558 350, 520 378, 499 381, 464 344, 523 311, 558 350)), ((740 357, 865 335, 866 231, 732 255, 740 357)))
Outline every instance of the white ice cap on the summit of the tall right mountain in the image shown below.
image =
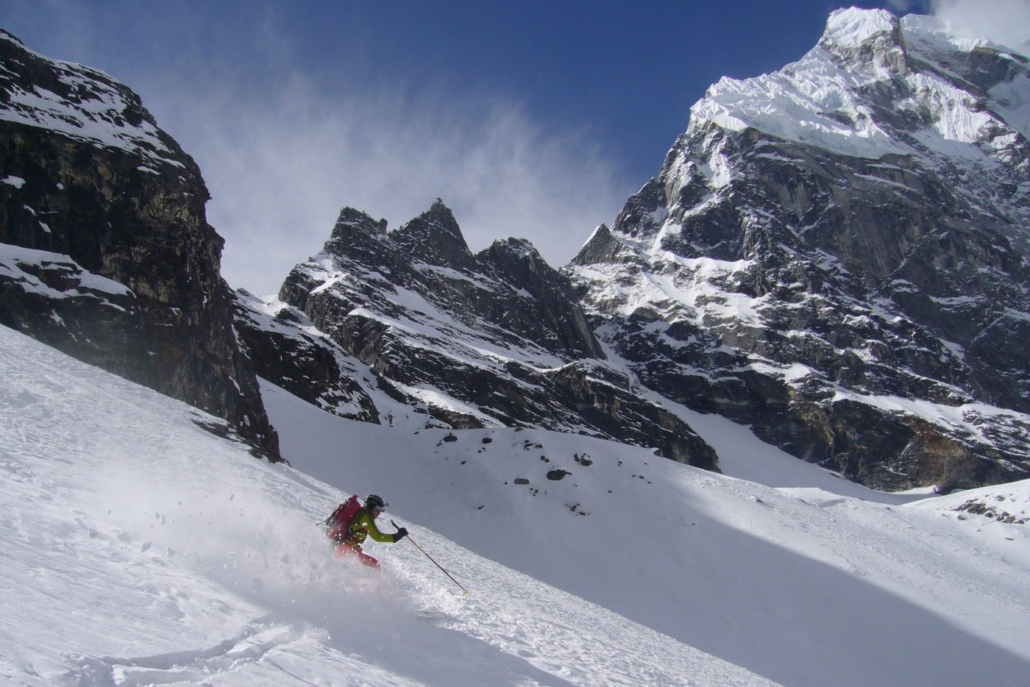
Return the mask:
POLYGON ((750 79, 722 78, 691 108, 688 135, 716 126, 756 129, 788 141, 857 158, 913 154, 928 148, 967 159, 1009 147, 1030 133, 1030 77, 1017 58, 1008 78, 987 84, 984 107, 968 75, 957 73, 976 49, 1004 50, 956 36, 932 18, 897 20, 885 10, 833 12, 819 45, 798 62, 750 79), (932 69, 909 68, 909 53, 932 69), (964 84, 964 85, 963 85, 964 84), (870 96, 878 93, 880 96, 870 96), (892 94, 893 102, 881 102, 892 94), (879 98, 879 100, 878 100, 879 98), (906 141, 893 111, 917 127, 906 141), (951 142, 968 144, 951 145, 951 142))

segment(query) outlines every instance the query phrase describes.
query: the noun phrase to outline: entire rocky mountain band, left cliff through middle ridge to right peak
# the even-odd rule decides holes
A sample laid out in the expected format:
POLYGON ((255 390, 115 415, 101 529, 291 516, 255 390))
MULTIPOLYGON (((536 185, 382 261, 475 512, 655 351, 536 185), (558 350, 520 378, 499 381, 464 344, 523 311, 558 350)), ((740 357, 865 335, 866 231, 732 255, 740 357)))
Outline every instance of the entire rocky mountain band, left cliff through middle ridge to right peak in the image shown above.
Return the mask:
POLYGON ((393 231, 344 208, 266 299, 228 293, 200 171, 138 97, 34 55, 2 84, 15 148, 26 131, 71 145, 106 161, 79 181, 114 185, 32 171, 32 146, 7 161, 4 321, 220 412, 273 455, 255 371, 351 419, 588 434, 711 470, 679 409, 883 489, 1030 474, 1030 352, 1010 345, 1030 335, 1018 54, 838 10, 801 60, 714 84, 658 176, 561 270, 522 239, 473 253, 438 199, 393 231), (142 215, 115 202, 123 181, 142 215))

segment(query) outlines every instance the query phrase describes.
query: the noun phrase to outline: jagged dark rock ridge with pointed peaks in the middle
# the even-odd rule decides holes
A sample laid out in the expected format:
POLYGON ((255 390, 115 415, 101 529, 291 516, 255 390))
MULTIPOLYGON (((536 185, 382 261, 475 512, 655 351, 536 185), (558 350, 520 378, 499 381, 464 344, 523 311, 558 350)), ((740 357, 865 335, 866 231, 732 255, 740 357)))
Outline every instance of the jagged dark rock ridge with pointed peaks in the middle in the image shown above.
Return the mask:
MULTIPOLYGON (((606 365, 569 280, 528 242, 497 241, 473 254, 439 201, 385 230, 345 208, 324 251, 293 270, 279 299, 368 366, 392 400, 422 403, 436 422, 454 428, 583 432, 717 469, 700 437, 606 365)), ((268 328, 258 329, 254 337, 270 338, 268 328)), ((251 350, 275 347, 244 338, 251 350)), ((284 364, 288 374, 261 374, 303 376, 293 358, 284 364)))

